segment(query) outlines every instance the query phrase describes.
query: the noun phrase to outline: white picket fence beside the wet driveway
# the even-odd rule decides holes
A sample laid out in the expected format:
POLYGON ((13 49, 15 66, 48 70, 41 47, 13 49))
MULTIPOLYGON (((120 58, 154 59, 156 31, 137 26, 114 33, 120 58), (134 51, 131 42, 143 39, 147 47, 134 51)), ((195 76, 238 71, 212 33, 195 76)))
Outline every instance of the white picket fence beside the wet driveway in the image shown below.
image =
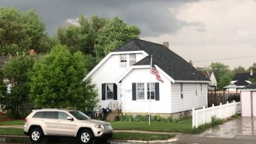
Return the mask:
POLYGON ((203 106, 203 109, 197 109, 195 110, 193 107, 192 110, 192 126, 198 127, 200 125, 203 125, 205 123, 209 123, 212 121, 212 116, 216 116, 217 118, 225 119, 228 118, 235 113, 241 113, 241 103, 235 102, 228 103, 227 104, 221 104, 219 106, 214 106, 212 104, 212 107, 205 108, 203 106))

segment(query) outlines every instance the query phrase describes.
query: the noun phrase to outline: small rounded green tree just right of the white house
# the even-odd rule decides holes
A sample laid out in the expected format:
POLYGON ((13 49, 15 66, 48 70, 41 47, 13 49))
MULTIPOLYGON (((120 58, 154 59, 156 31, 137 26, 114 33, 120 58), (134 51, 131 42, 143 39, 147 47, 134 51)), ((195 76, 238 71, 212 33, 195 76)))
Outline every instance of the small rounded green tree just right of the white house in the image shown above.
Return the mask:
POLYGON ((210 68, 214 72, 214 75, 215 75, 215 78, 217 81, 217 85, 221 80, 221 76, 225 75, 225 73, 230 71, 230 69, 228 69, 229 66, 224 65, 224 63, 220 63, 220 62, 212 62, 210 64, 210 68))

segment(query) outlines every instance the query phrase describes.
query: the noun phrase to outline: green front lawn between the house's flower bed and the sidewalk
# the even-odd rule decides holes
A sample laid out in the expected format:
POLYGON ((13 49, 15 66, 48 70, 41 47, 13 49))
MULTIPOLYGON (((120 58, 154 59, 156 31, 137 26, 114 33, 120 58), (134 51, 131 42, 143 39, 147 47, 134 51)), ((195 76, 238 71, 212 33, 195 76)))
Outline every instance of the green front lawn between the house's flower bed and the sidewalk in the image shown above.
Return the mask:
POLYGON ((165 131, 188 132, 192 129, 192 119, 182 120, 176 123, 169 122, 111 122, 113 129, 141 130, 141 131, 165 131))

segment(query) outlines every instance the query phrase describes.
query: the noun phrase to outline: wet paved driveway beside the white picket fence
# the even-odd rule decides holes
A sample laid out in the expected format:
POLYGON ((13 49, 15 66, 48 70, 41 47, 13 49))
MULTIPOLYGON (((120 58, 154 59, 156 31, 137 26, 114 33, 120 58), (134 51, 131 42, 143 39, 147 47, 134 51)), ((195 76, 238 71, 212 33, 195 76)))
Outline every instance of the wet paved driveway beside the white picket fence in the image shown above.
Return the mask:
POLYGON ((238 138, 256 137, 256 117, 239 117, 206 130, 198 137, 238 138))

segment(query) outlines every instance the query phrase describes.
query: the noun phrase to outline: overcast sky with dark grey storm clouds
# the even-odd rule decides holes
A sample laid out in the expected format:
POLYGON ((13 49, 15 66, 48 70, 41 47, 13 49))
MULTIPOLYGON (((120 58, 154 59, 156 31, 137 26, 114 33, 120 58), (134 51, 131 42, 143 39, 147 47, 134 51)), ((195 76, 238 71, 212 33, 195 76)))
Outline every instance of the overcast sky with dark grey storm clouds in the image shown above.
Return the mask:
POLYGON ((0 0, 0 6, 34 8, 50 35, 82 13, 119 16, 139 26, 141 39, 168 41, 172 51, 195 67, 209 66, 212 61, 207 60, 231 69, 256 62, 255 0, 0 0), (246 58, 217 61, 234 57, 246 58))

